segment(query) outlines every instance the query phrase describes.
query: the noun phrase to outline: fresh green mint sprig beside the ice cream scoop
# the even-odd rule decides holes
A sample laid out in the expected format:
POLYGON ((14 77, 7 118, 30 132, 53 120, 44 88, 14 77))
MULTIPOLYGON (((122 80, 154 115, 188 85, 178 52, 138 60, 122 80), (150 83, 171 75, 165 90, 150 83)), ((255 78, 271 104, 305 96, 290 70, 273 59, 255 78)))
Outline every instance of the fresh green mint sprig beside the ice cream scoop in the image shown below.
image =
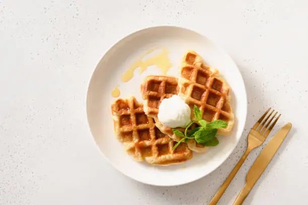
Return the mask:
POLYGON ((175 144, 173 150, 179 146, 183 141, 188 142, 190 139, 195 139, 198 144, 213 147, 219 144, 218 139, 215 137, 217 134, 217 129, 225 128, 228 124, 222 120, 215 120, 210 123, 207 123, 205 120, 202 119, 202 113, 200 109, 194 105, 194 115, 200 124, 200 127, 193 128, 188 133, 188 129, 192 126, 193 122, 191 122, 185 129, 184 134, 176 129, 173 129, 173 133, 182 139, 175 144))

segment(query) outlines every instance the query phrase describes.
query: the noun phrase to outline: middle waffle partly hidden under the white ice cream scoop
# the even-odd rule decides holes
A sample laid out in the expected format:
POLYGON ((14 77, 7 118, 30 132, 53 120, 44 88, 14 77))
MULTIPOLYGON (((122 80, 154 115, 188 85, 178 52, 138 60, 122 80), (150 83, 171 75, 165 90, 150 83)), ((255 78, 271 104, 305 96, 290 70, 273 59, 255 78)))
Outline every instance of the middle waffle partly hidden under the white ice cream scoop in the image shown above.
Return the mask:
MULTIPOLYGON (((181 137, 175 135, 172 128, 164 126, 158 119, 159 106, 164 98, 169 98, 179 93, 178 78, 170 76, 149 75, 144 78, 141 84, 141 94, 145 103, 144 113, 155 119, 156 127, 164 134, 175 141, 181 140, 181 137)), ((177 128, 184 132, 183 128, 177 128)), ((205 152, 208 148, 190 140, 187 142, 189 149, 196 152, 205 152)))

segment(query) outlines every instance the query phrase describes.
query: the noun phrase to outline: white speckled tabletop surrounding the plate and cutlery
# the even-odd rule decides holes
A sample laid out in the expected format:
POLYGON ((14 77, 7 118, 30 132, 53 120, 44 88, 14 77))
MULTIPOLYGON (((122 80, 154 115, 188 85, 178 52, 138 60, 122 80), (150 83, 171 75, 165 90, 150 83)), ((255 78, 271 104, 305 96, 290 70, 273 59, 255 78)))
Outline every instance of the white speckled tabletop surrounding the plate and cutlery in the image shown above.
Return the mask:
MULTIPOLYGON (((234 58, 248 91, 243 135, 270 106, 283 114, 279 127, 293 124, 244 204, 307 204, 307 9, 307 1, 287 0, 0 0, 0 204, 209 202, 243 153, 245 137, 212 174, 153 187, 115 170, 88 128, 87 85, 103 53, 127 34, 161 24, 194 29, 234 58)), ((260 150, 219 204, 233 203, 260 150)))

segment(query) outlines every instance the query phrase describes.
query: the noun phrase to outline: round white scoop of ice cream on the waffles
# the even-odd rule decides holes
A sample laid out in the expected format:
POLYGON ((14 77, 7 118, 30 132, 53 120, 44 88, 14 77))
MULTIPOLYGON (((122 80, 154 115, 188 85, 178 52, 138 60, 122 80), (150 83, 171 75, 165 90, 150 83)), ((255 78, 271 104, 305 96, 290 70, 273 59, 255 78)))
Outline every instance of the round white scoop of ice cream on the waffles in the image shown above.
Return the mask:
POLYGON ((158 118, 164 126, 186 128, 191 122, 190 108, 181 97, 173 95, 161 102, 158 118))

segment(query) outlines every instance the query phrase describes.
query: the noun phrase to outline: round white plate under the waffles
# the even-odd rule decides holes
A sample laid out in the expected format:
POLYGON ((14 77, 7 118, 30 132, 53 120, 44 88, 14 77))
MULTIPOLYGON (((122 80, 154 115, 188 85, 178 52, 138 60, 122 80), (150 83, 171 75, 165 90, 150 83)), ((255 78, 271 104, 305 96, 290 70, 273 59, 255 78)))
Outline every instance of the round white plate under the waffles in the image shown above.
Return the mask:
POLYGON ((247 97, 241 73, 233 60, 206 37, 179 27, 160 26, 137 31, 116 43, 103 56, 90 81, 87 114, 91 132, 107 160, 120 172, 137 181, 160 186, 171 186, 197 180, 216 169, 237 146, 247 115, 247 97), (111 103, 116 98, 111 90, 119 84, 120 97, 135 96, 141 100, 140 84, 148 74, 161 74, 155 66, 141 75, 121 82, 121 75, 145 51, 162 46, 169 49, 173 67, 167 74, 178 75, 181 58, 188 49, 195 50, 205 62, 217 68, 232 88, 232 107, 236 118, 232 135, 218 136, 219 145, 204 154, 194 153, 193 158, 180 165, 166 167, 135 162, 123 151, 123 144, 114 136, 111 103))

